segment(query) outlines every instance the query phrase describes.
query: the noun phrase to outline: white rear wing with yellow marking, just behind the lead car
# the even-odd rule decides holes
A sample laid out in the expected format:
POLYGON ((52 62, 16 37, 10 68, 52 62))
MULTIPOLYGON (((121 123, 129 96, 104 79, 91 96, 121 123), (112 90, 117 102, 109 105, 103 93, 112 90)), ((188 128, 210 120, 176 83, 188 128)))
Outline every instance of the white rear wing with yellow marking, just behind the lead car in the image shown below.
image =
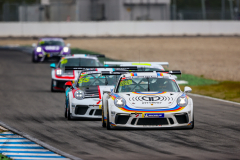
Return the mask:
POLYGON ((109 62, 105 61, 104 65, 120 65, 120 66, 168 66, 168 62, 109 62))

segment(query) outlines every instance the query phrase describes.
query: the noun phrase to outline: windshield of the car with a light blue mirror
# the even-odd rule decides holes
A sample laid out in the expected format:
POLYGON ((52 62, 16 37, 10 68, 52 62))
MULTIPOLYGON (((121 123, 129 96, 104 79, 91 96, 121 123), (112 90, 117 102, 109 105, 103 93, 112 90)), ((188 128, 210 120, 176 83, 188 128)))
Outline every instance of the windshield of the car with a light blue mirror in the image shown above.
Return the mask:
POLYGON ((59 65, 59 68, 65 68, 65 66, 100 66, 96 59, 87 58, 66 58, 62 59, 59 65))

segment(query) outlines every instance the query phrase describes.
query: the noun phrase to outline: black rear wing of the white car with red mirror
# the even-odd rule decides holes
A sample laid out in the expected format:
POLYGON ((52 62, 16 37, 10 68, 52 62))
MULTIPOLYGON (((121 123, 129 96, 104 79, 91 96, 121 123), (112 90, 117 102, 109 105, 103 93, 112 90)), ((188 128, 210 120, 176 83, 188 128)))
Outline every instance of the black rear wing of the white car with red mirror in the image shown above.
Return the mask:
POLYGON ((119 67, 119 66, 109 66, 109 67, 104 67, 104 66, 65 66, 65 70, 85 70, 85 69, 88 69, 88 68, 114 68, 114 69, 118 69, 118 70, 137 70, 138 68, 136 66, 122 66, 122 67, 119 67))

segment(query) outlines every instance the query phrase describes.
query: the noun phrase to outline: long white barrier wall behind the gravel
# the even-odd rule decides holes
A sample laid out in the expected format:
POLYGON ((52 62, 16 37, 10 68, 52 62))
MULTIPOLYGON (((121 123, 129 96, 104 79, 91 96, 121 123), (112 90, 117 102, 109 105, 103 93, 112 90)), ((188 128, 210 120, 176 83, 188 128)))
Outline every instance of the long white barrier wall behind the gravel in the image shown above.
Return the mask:
POLYGON ((0 23, 0 37, 233 36, 238 21, 111 21, 0 23))

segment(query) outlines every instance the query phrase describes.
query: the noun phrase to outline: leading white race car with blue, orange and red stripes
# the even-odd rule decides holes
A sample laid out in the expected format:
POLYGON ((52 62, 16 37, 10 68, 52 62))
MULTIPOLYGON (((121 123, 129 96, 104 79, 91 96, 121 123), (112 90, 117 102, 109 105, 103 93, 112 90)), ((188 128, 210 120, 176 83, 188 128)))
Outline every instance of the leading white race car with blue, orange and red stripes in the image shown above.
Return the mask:
POLYGON ((121 75, 116 87, 103 91, 102 126, 107 129, 194 128, 193 101, 182 92, 173 73, 136 72, 121 75))

